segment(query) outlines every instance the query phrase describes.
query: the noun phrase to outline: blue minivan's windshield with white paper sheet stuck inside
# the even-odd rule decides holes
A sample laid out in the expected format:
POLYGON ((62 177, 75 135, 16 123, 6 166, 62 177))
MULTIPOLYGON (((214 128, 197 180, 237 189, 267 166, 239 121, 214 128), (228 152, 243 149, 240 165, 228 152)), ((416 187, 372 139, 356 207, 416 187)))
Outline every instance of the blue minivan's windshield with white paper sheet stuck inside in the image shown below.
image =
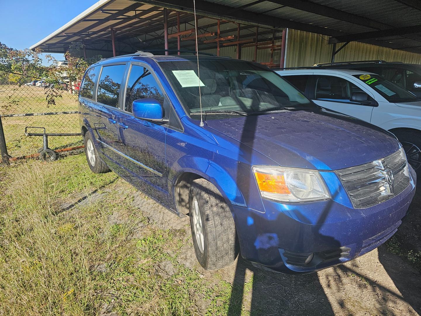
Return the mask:
MULTIPOLYGON (((264 66, 222 58, 200 58, 199 63, 203 112, 251 115, 316 107, 264 66)), ((200 113, 196 58, 159 64, 189 114, 200 113)))

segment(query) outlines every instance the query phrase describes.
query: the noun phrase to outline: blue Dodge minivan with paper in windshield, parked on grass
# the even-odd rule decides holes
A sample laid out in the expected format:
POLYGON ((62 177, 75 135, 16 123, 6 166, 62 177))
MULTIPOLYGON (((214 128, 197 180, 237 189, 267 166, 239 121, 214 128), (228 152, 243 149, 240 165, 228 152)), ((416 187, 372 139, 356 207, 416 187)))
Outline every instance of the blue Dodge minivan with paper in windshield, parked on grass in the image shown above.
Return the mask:
POLYGON ((260 64, 139 52, 102 60, 80 88, 88 165, 179 216, 207 270, 240 252, 309 273, 390 238, 416 175, 389 132, 329 112, 260 64))

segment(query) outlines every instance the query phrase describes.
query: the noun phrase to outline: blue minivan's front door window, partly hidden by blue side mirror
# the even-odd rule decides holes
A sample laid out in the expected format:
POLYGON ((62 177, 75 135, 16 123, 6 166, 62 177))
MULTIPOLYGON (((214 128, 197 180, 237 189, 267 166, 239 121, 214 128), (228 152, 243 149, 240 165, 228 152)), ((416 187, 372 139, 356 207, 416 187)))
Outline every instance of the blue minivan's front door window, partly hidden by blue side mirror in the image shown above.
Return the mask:
POLYGON ((137 99, 156 99, 164 104, 164 94, 147 68, 132 65, 127 83, 124 110, 131 112, 132 103, 137 99))

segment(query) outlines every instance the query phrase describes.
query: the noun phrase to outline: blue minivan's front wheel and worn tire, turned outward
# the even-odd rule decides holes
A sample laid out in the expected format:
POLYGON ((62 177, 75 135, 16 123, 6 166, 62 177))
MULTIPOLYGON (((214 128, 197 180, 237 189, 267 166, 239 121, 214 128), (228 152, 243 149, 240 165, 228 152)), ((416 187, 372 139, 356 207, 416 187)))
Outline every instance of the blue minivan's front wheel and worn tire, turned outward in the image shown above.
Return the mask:
POLYGON ((217 270, 232 263, 238 254, 234 218, 221 193, 205 179, 190 186, 189 217, 200 265, 217 270))

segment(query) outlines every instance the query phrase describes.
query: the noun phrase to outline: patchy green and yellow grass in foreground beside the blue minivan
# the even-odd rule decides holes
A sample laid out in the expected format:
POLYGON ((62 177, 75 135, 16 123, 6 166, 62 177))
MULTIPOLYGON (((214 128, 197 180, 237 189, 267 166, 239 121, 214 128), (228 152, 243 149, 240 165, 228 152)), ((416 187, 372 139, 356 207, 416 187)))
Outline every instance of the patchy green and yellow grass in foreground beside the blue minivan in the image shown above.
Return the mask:
POLYGON ((200 294, 208 315, 226 315, 231 285, 178 263, 185 236, 147 224, 136 190, 91 173, 83 154, 0 168, 0 178, 0 314, 193 315, 200 294), (162 262, 173 273, 157 273, 162 262))

